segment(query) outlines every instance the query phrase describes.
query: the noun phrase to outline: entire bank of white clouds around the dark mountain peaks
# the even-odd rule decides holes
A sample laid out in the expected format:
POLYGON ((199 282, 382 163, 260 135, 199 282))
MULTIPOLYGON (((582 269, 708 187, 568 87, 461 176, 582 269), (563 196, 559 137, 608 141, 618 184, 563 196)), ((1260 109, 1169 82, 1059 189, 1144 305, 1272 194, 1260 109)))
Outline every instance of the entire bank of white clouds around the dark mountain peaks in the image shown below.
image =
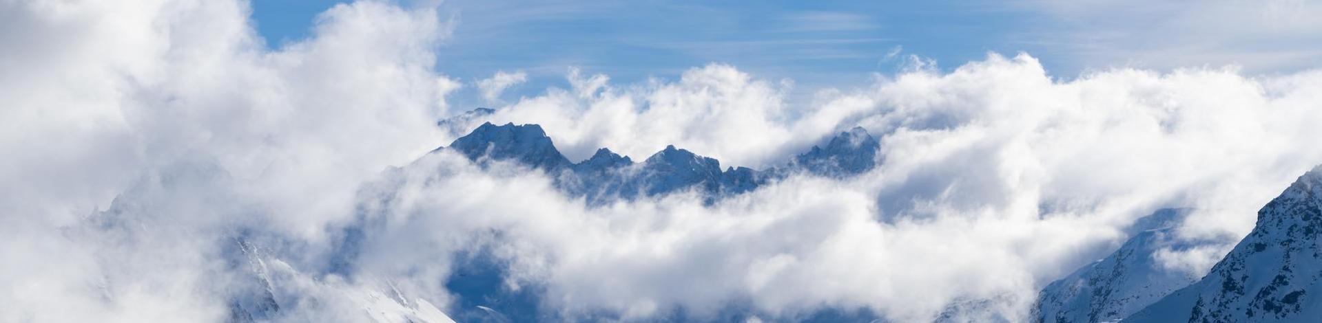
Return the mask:
MULTIPOLYGON (((0 320, 223 320, 251 277, 280 320, 436 318, 463 310, 444 282, 477 249, 570 319, 1017 320, 1136 218, 1194 207, 1182 235, 1232 244, 1322 161, 1319 71, 1060 80, 990 54, 791 105, 792 83, 719 63, 633 84, 571 70, 570 88, 489 119, 541 124, 571 160, 673 144, 765 167, 851 127, 884 156, 853 179, 791 177, 711 206, 588 207, 535 170, 427 153, 455 136, 436 120, 460 112, 444 102, 459 83, 434 71, 452 29, 435 9, 337 5, 279 49, 247 11, 0 3, 0 47, 17 49, 0 53, 0 302, 17 308, 0 320), (361 249, 337 269, 349 227, 361 249)), ((1163 253, 1195 272, 1216 257, 1163 253)))

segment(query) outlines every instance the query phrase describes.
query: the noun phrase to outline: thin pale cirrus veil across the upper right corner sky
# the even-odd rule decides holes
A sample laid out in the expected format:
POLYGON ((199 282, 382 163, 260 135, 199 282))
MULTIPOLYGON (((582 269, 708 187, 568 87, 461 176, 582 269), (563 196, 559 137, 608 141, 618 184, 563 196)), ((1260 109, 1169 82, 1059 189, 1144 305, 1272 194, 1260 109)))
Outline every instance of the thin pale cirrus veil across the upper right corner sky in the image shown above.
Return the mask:
POLYGON ((1046 16, 1017 37, 1027 49, 1059 53, 1079 67, 1241 66, 1288 73, 1322 61, 1315 1, 1025 1, 1046 16))

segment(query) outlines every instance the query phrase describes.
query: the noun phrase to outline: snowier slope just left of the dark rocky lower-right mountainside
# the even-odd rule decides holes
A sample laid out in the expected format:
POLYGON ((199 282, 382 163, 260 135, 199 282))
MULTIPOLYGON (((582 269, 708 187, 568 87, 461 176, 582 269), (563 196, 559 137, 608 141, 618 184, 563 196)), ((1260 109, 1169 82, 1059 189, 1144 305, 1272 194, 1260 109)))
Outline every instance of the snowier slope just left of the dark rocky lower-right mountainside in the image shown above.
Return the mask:
POLYGON ((1162 266, 1154 258, 1163 249, 1215 243, 1175 239, 1175 225, 1188 211, 1163 208, 1136 221, 1129 240, 1116 252, 1047 285, 1038 295, 1032 320, 1116 322, 1198 281, 1196 274, 1162 266))

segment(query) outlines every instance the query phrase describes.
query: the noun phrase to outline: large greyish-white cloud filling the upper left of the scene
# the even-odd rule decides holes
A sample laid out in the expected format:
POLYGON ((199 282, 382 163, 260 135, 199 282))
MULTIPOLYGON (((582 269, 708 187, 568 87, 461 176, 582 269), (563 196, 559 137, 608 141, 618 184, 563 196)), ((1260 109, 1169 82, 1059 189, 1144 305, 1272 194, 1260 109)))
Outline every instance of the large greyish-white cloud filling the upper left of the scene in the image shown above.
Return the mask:
POLYGON ((0 302, 16 308, 4 322, 223 318, 226 286, 210 281, 225 272, 219 235, 260 225, 317 244, 361 181, 442 136, 432 65, 447 29, 432 9, 337 5, 316 37, 276 51, 259 45, 246 1, 0 12, 13 17, 0 46, 24 49, 0 54, 0 187, 12 192, 0 236, 5 262, 21 264, 0 274, 0 302), (176 189, 145 190, 107 220, 122 224, 75 229, 153 182, 176 189))

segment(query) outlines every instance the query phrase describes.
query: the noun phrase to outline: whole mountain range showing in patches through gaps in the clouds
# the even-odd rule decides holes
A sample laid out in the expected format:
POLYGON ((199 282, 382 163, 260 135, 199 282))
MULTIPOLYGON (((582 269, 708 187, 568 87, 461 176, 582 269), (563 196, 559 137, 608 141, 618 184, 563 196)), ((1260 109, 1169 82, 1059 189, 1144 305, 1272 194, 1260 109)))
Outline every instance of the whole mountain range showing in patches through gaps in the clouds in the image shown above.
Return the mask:
MULTIPOLYGON (((480 119, 490 112, 464 115, 480 119)), ((471 121, 471 120, 469 120, 471 121)), ((469 121, 440 123, 440 127, 460 127, 469 121)), ((535 124, 496 125, 484 123, 472 132, 436 148, 434 153, 452 152, 479 166, 496 163, 517 165, 547 174, 557 189, 571 196, 583 198, 588 206, 608 204, 615 200, 661 196, 689 192, 706 203, 746 194, 792 174, 812 174, 847 178, 873 170, 883 162, 880 142, 863 128, 837 133, 822 145, 797 154, 780 166, 755 170, 724 166, 715 158, 694 152, 666 146, 660 152, 635 161, 607 148, 590 158, 572 162, 555 148, 553 140, 535 124)), ((205 181, 226 181, 223 171, 197 169, 185 171, 205 181), (206 174, 215 178, 208 178, 206 174)), ((386 178, 399 177, 387 171, 386 178)), ((193 181, 198 182, 198 181, 193 181)), ((390 181, 385 181, 390 182, 390 181)), ((81 232, 97 235, 102 227, 134 228, 134 194, 139 190, 171 191, 171 178, 160 183, 130 190, 102 212, 81 232)), ((176 185, 177 186, 177 185, 176 185)), ((389 191, 389 187, 386 190, 389 191)), ((389 199, 389 194, 386 199, 389 199)), ((370 206, 361 207, 370 210, 370 206)), ((1087 264, 1067 277, 1046 285, 1031 308, 1034 322, 1310 322, 1322 318, 1322 166, 1300 177, 1276 199, 1257 214, 1257 223, 1220 262, 1206 274, 1166 268, 1157 260, 1163 250, 1187 250, 1218 245, 1216 241, 1179 237, 1177 228, 1194 210, 1165 208, 1132 224, 1128 240, 1101 260, 1087 264)), ((368 211, 364 211, 368 212, 368 211)), ((324 273, 352 273, 358 248, 371 237, 373 227, 381 225, 381 216, 360 215, 354 223, 332 233, 333 252, 324 273)), ((230 322, 264 322, 280 318, 282 308, 291 303, 307 302, 283 290, 291 279, 311 279, 287 266, 268 264, 263 250, 263 237, 256 232, 238 232, 222 248, 221 256, 239 277, 230 289, 230 322), (301 278, 300 278, 301 277, 301 278)), ((537 322, 562 320, 541 308, 538 287, 526 286, 509 290, 504 283, 508 270, 498 257, 488 250, 468 250, 456 256, 456 268, 446 281, 446 287, 457 298, 451 312, 440 314, 423 301, 410 301, 398 290, 371 294, 365 305, 373 316, 386 315, 411 322, 537 322), (394 295, 387 295, 394 294, 394 295), (432 319, 427 319, 432 318, 432 319)), ((951 315, 976 311, 977 301, 953 308, 951 315), (960 310, 964 308, 964 310, 960 310)), ((731 312, 719 320, 740 322, 747 315, 731 312)), ((602 316, 609 320, 612 316, 602 316)), ((674 314, 661 320, 689 320, 674 314)), ((870 311, 842 311, 828 308, 800 318, 808 322, 880 322, 870 311)), ((958 320, 958 319, 951 319, 958 320)))

